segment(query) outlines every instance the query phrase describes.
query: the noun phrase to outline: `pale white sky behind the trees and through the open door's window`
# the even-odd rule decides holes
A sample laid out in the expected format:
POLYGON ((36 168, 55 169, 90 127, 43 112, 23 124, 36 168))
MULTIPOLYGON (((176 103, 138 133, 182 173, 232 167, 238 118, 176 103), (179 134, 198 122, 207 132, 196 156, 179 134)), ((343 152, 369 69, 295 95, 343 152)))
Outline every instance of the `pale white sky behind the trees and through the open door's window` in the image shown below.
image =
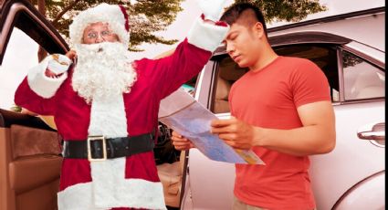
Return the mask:
MULTIPOLYGON (((209 0, 213 1, 213 0, 209 0)), ((234 1, 226 0, 225 5, 230 5, 234 1)), ((383 0, 320 0, 320 4, 326 5, 329 9, 320 14, 308 16, 307 19, 322 16, 333 16, 343 13, 364 10, 385 5, 383 0)), ((185 0, 182 4, 184 11, 180 12, 176 20, 166 31, 158 33, 165 38, 184 40, 194 20, 200 16, 201 11, 197 5, 197 0, 185 0)), ((272 26, 280 26, 286 23, 276 23, 272 26)), ((270 27, 271 25, 268 25, 270 27)), ((157 55, 172 49, 173 46, 162 44, 143 44, 143 52, 131 52, 132 59, 154 58, 157 55)), ((31 57, 37 52, 37 44, 28 40, 26 35, 14 30, 10 43, 5 54, 5 61, 0 66, 0 108, 9 109, 13 105, 13 95, 17 85, 26 75, 29 68, 37 64, 37 57, 31 57), (16 50, 17 49, 17 50, 16 50), (22 59, 23 62, 19 60, 22 59), (12 69, 12 70, 11 70, 12 69)))

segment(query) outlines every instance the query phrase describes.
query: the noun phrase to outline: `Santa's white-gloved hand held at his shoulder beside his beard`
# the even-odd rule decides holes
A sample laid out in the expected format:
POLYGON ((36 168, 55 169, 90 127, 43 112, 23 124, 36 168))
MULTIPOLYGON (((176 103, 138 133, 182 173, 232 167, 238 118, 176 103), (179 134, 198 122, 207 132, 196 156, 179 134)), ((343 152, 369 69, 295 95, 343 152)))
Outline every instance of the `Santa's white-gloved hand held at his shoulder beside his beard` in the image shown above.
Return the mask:
POLYGON ((60 54, 51 55, 45 75, 49 78, 58 78, 68 70, 73 63, 72 60, 75 58, 77 58, 77 53, 74 50, 69 50, 66 56, 60 54))

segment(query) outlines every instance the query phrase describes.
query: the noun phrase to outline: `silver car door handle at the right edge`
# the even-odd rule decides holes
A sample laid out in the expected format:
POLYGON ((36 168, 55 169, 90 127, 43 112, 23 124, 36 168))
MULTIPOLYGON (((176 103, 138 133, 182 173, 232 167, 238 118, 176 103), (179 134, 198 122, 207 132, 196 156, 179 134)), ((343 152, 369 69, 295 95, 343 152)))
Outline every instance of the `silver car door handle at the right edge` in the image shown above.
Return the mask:
POLYGON ((385 147, 385 122, 362 126, 357 131, 357 137, 362 140, 369 140, 376 146, 385 147))

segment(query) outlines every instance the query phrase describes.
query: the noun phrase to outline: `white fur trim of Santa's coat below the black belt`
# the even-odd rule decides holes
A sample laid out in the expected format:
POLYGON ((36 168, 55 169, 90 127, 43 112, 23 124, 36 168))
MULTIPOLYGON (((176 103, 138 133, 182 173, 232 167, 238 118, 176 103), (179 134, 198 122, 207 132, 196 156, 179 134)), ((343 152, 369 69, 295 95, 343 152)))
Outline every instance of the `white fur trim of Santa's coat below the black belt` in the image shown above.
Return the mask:
POLYGON ((93 182, 75 184, 59 192, 59 210, 166 209, 162 183, 125 179, 124 157, 90 165, 93 182))

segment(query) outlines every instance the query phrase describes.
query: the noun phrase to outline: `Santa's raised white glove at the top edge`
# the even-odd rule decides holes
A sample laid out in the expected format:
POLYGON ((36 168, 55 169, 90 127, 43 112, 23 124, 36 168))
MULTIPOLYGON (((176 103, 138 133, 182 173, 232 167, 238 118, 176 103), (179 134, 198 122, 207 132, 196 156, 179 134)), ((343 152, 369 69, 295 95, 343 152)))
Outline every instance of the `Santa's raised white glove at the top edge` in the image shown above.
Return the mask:
POLYGON ((226 0, 198 0, 198 5, 204 13, 204 19, 217 22, 224 12, 226 0))

